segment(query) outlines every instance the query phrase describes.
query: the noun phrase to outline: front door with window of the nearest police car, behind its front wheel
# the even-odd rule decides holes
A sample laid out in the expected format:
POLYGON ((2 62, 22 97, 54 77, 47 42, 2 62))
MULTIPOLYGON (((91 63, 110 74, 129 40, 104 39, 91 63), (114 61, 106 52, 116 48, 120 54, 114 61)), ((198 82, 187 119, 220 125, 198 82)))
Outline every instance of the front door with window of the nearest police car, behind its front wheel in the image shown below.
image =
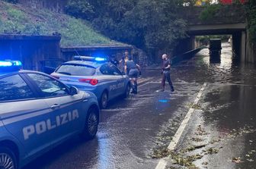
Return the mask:
POLYGON ((69 95, 69 89, 63 83, 43 74, 27 74, 37 84, 51 113, 47 132, 63 139, 77 133, 84 126, 85 110, 82 95, 69 95))

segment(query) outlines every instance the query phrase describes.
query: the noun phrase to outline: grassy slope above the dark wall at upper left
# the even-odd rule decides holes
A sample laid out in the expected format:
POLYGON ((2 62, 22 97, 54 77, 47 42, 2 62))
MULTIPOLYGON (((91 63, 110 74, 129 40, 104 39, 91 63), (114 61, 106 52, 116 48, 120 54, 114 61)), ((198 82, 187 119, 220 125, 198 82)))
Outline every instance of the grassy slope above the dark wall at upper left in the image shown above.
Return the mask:
POLYGON ((95 32, 89 23, 46 9, 30 9, 0 1, 0 34, 62 35, 62 46, 123 45, 95 32))

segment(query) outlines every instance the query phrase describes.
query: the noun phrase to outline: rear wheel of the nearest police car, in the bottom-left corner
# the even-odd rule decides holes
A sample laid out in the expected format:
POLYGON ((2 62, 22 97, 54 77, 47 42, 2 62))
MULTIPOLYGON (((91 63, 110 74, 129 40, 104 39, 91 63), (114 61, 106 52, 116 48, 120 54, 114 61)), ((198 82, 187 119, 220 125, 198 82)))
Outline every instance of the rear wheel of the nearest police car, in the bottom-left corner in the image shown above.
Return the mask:
POLYGON ((11 149, 0 146, 0 168, 17 169, 17 159, 11 149))

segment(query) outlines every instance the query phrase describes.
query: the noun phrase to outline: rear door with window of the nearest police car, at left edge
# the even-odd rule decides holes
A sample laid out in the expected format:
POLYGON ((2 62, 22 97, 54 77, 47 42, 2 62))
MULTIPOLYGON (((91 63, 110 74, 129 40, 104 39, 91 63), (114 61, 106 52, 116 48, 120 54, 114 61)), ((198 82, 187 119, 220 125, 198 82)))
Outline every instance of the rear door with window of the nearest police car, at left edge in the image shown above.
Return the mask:
POLYGON ((27 155, 40 151, 54 139, 54 135, 43 135, 49 106, 38 98, 22 74, 0 79, 0 110, 5 128, 24 145, 27 155))

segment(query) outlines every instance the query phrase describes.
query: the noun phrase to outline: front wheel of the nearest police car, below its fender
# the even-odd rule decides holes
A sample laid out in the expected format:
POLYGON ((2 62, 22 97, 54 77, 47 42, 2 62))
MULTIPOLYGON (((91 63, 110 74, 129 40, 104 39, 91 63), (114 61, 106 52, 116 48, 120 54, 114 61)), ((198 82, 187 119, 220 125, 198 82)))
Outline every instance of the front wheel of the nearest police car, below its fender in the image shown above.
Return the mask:
POLYGON ((88 109, 85 128, 80 136, 83 139, 93 139, 98 131, 99 117, 98 117, 98 108, 91 107, 88 109))

